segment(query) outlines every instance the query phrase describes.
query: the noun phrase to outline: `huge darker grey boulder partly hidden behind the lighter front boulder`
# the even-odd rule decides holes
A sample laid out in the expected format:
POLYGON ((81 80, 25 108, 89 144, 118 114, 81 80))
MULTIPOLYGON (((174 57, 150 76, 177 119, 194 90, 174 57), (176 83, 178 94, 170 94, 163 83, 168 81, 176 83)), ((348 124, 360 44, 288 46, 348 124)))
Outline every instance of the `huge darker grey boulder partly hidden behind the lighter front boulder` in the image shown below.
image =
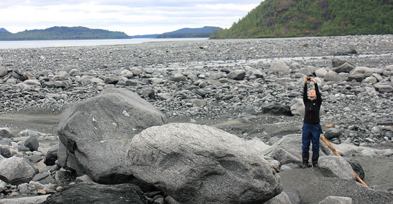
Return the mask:
POLYGON ((61 165, 72 165, 79 173, 82 167, 98 183, 126 182, 131 173, 123 164, 132 137, 165 122, 165 116, 138 94, 108 88, 61 114, 57 130, 67 149, 59 151, 67 152, 58 154, 61 165))

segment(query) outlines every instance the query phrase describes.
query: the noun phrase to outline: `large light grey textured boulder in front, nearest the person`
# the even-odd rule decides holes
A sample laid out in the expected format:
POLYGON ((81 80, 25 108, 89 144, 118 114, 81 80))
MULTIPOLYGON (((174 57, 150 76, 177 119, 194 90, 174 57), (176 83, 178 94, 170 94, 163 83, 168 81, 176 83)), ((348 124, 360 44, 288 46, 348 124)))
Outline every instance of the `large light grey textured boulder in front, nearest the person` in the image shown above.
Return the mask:
POLYGON ((127 165, 138 179, 180 203, 263 203, 283 190, 258 150, 206 125, 143 130, 132 139, 127 165))

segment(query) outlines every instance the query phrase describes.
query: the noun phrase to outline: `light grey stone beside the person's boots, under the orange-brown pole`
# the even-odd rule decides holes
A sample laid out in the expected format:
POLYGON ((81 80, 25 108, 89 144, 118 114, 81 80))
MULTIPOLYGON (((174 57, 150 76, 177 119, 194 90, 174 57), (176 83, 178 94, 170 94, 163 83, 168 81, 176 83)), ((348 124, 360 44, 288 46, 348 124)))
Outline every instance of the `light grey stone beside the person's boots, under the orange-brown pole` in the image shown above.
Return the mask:
POLYGON ((355 181, 352 167, 345 159, 339 156, 321 156, 318 161, 319 167, 330 170, 341 179, 355 181))

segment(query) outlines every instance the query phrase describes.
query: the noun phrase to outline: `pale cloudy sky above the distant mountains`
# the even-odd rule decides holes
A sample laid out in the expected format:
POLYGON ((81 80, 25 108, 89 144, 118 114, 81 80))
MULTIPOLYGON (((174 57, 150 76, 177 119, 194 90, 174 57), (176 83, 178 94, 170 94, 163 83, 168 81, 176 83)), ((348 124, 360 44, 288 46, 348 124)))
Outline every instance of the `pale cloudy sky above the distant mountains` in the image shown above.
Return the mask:
POLYGON ((16 33, 83 26, 137 34, 181 28, 230 28, 261 0, 0 0, 0 28, 16 33))

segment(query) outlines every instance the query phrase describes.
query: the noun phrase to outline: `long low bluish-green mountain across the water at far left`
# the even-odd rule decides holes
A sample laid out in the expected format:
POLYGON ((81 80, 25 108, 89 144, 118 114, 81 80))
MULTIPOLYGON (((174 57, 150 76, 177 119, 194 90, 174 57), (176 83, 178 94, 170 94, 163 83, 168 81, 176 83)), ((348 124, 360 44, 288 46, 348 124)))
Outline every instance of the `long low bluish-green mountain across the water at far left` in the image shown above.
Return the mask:
POLYGON ((2 41, 69 40, 69 39, 130 39, 124 32, 113 32, 85 27, 52 27, 45 30, 25 30, 12 34, 0 32, 2 41))

